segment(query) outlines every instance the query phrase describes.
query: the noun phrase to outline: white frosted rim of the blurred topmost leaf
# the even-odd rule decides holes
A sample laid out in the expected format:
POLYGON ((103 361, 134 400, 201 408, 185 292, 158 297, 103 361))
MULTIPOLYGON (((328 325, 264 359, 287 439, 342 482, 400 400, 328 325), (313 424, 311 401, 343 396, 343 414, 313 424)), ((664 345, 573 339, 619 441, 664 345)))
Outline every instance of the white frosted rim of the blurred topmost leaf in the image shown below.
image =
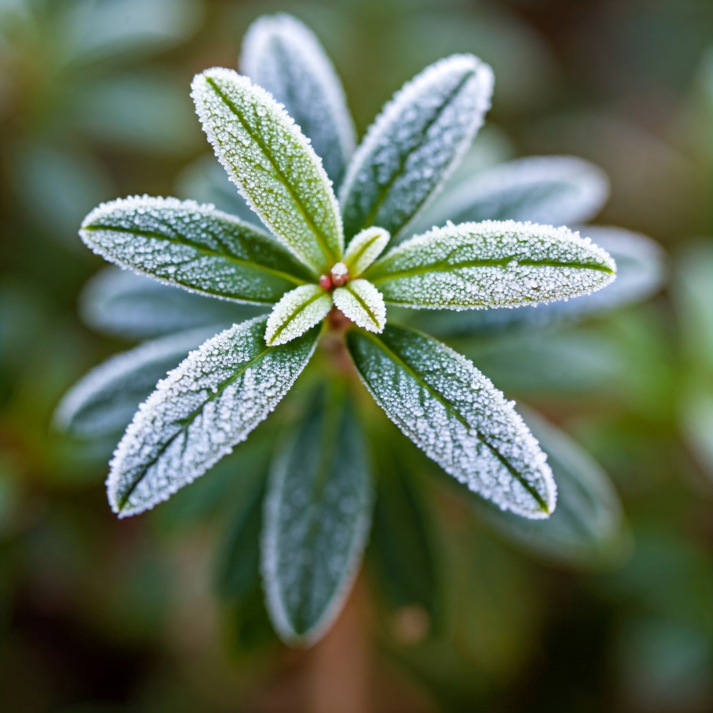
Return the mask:
POLYGON ((352 115, 349 113, 347 95, 344 93, 332 60, 307 25, 287 13, 263 15, 257 18, 242 39, 239 63, 242 72, 248 77, 256 73, 255 64, 265 53, 265 46, 271 36, 287 45, 292 45, 292 51, 302 54, 314 76, 318 78, 319 84, 324 88, 327 103, 332 107, 336 120, 342 156, 347 163, 356 147, 356 130, 352 115))

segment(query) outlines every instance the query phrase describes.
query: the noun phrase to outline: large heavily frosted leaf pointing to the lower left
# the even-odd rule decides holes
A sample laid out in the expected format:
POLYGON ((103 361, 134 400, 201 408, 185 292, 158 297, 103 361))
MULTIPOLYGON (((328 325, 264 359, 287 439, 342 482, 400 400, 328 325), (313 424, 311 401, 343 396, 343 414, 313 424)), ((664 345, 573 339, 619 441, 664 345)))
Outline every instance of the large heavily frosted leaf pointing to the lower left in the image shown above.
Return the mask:
POLYGON ((319 329, 267 347, 266 322, 257 317, 209 339, 139 406, 106 481, 120 517, 153 508, 202 476, 287 394, 314 352, 319 329))

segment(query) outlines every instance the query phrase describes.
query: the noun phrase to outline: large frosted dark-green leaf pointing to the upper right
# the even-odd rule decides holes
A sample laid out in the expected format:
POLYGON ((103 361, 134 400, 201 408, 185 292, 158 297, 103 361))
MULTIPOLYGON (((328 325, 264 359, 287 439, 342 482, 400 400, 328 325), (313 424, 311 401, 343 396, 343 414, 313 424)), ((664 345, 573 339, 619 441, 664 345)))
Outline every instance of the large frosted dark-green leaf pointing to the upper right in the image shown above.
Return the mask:
POLYGON ((448 177, 483 123, 493 72, 472 55, 442 59, 399 90, 352 158, 339 193, 347 237, 396 237, 448 177))

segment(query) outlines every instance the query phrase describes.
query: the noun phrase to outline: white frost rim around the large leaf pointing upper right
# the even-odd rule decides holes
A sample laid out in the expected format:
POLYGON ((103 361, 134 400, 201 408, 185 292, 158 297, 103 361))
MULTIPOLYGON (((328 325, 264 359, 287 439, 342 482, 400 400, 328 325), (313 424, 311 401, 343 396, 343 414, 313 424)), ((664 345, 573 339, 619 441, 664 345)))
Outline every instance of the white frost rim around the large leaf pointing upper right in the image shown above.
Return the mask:
POLYGON ((381 133, 383 133, 384 127, 390 126, 398 120, 401 113, 404 112, 416 99, 419 94, 426 91, 426 88, 437 83, 441 76, 450 72, 463 73, 467 71, 473 71, 475 73, 474 79, 476 83, 476 91, 478 92, 478 103, 476 106, 476 111, 473 113, 473 120, 471 126, 466 133, 466 138, 461 140, 461 144, 453 152, 453 158, 451 158, 451 163, 448 164, 446 170, 443 171, 438 184, 431 191, 431 194, 424 200, 419 206, 418 210, 414 212, 414 215, 406 222, 399 232, 392 236, 398 237, 406 231, 406 229, 411 225, 416 219, 417 215, 421 214, 427 205, 431 203, 431 200, 436 198, 438 192, 443 188, 448 178, 451 177, 453 171, 456 170, 459 163, 463 159, 463 156, 470 148, 471 143, 473 143, 473 138, 475 138, 476 133, 483 125, 485 120, 485 115, 488 109, 491 108, 491 99, 493 96, 493 87, 495 86, 495 75, 493 74, 493 69, 490 65, 484 63, 473 54, 461 53, 453 54, 449 57, 444 57, 439 59, 437 62, 429 65, 414 78, 409 79, 404 86, 402 86, 399 91, 397 91, 391 99, 384 104, 381 112, 374 119, 374 122, 366 130, 366 135, 361 141, 359 146, 356 148, 352 160, 347 166, 347 172, 344 174, 344 180, 342 181, 342 187, 339 190, 339 202, 344 203, 349 195, 349 190, 351 188, 352 181, 356 175, 361 171, 364 166, 365 161, 369 158, 371 153, 373 153, 374 148, 379 140, 381 140, 381 133))

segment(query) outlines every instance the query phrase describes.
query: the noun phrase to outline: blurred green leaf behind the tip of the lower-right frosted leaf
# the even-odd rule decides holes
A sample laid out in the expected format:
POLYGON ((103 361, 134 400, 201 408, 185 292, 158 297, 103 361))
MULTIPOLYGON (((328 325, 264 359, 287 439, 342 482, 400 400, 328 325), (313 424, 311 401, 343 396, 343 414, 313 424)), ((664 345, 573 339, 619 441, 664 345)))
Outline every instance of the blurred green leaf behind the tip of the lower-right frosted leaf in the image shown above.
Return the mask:
POLYGON ((621 503, 600 465, 555 426, 529 409, 525 421, 547 453, 557 483, 557 510, 545 521, 523 520, 486 501, 476 511, 509 540, 570 565, 604 565, 626 550, 621 503))

